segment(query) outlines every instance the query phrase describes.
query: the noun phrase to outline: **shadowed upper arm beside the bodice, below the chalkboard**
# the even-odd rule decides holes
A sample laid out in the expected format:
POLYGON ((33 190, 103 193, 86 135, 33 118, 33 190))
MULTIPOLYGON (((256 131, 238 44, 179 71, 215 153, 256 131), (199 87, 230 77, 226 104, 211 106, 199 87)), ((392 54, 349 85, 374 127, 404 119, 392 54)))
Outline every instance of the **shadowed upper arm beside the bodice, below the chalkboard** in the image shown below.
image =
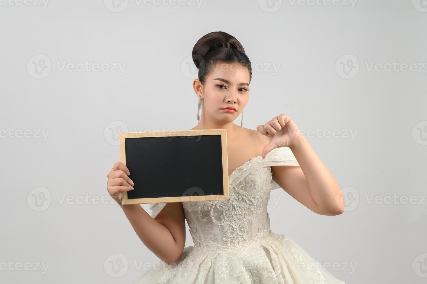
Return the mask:
POLYGON ((185 217, 182 202, 168 202, 154 219, 172 234, 176 243, 176 258, 178 258, 185 246, 185 217))

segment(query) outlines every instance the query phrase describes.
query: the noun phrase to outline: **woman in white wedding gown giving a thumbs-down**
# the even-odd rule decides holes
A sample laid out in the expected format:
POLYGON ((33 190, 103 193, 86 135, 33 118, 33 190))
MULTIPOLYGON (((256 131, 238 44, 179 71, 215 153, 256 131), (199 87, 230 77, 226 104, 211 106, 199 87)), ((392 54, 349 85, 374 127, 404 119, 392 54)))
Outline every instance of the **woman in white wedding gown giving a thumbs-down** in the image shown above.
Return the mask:
POLYGON ((154 203, 150 215, 139 204, 122 205, 122 192, 133 190, 134 182, 123 163, 114 164, 108 193, 161 260, 135 283, 344 283, 290 238, 271 231, 267 213, 270 191, 281 187, 317 214, 341 214, 344 200, 336 180, 286 114, 256 131, 243 128, 252 69, 236 38, 208 33, 192 54, 199 69, 193 81, 198 124, 192 130, 227 129, 230 199, 154 203), (184 247, 185 220, 194 246, 184 247))

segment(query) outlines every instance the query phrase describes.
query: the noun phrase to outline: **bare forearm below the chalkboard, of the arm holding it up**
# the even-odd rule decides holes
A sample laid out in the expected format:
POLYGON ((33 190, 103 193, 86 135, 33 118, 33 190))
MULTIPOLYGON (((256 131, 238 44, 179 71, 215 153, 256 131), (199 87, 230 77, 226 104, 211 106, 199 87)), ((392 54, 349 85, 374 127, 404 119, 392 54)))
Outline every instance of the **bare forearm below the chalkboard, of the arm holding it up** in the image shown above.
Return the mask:
POLYGON ((178 245, 170 231, 139 204, 123 205, 123 212, 144 245, 167 264, 175 261, 178 245))

